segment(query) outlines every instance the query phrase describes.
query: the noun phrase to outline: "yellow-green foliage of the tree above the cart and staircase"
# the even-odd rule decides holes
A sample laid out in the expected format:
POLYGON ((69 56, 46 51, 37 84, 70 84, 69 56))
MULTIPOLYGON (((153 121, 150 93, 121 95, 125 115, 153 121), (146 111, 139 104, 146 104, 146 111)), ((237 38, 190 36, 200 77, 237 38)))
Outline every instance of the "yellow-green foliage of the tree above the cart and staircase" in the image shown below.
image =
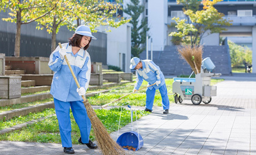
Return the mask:
MULTIPOLYGON (((203 0, 202 10, 195 10, 198 8, 195 5, 192 5, 191 2, 194 0, 179 0, 178 3, 182 3, 184 6, 184 14, 186 19, 173 18, 176 22, 176 28, 178 32, 171 32, 169 35, 174 37, 184 38, 186 36, 190 37, 191 45, 198 45, 200 43, 201 37, 203 37, 206 31, 210 33, 220 33, 225 28, 221 26, 231 25, 226 19, 223 19, 223 13, 219 13, 218 10, 214 8, 214 4, 222 0, 203 0)), ((194 3, 193 3, 194 4, 194 3)), ((198 4, 199 5, 199 4, 198 4)))

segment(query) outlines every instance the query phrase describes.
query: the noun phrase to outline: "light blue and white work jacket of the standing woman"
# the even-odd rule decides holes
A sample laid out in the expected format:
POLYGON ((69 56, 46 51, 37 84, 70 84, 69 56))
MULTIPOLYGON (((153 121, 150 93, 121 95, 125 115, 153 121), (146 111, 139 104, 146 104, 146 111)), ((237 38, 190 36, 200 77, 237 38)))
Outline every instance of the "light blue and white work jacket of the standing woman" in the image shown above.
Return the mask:
MULTIPOLYGON (((91 58, 86 50, 82 48, 74 55, 72 53, 72 46, 68 43, 62 44, 62 47, 67 49, 67 59, 70 62, 71 68, 81 87, 88 89, 91 76, 91 58)), ((52 71, 55 71, 51 84, 50 93, 52 96, 60 101, 81 101, 82 97, 78 95, 76 89, 77 85, 65 59, 60 57, 60 46, 57 46, 55 51, 50 56, 48 63, 52 71)))

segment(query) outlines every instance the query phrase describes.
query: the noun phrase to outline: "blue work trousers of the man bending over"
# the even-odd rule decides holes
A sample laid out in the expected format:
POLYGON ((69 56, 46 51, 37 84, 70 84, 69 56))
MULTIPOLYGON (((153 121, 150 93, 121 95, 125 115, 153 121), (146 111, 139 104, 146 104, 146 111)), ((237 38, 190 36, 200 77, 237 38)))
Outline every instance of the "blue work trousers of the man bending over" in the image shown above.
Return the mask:
MULTIPOLYGON (((164 110, 169 109, 170 101, 168 98, 166 85, 164 84, 163 86, 159 87, 159 91, 162 97, 162 105, 164 110)), ((148 108, 149 110, 152 110, 155 99, 155 92, 156 89, 154 87, 151 90, 149 88, 147 88, 146 90, 146 108, 148 108)))

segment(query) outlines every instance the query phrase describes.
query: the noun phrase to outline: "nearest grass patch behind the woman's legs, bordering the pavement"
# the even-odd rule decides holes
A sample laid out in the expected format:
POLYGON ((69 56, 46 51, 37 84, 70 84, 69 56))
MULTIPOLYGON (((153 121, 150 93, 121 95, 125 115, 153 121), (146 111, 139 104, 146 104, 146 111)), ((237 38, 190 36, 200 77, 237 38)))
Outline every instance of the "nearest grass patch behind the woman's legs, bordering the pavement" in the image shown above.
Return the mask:
MULTIPOLYGON (((97 116, 100 118, 101 122, 107 128, 107 131, 109 133, 118 130, 120 111, 121 111, 121 108, 112 108, 111 110, 105 110, 105 109, 95 110, 95 112, 97 113, 97 116)), ((142 116, 147 115, 148 113, 149 112, 145 112, 145 111, 139 111, 139 110, 136 111, 136 115, 138 119, 141 118, 142 116)), ((53 114, 55 114, 55 110, 51 108, 51 109, 45 110, 44 112, 41 112, 40 115, 37 115, 35 113, 33 114, 33 116, 35 119, 35 118, 38 118, 38 116, 40 118, 43 116, 49 116, 53 114), (45 115, 46 113, 48 113, 48 115, 45 115)), ((13 125, 16 125, 17 123, 22 123, 21 120, 29 121, 30 119, 28 117, 31 117, 31 116, 18 117, 6 122, 0 122, 0 125, 2 128, 3 127, 5 128, 10 124, 11 126, 13 126, 13 125), (20 121, 17 121, 17 120, 20 120, 20 121)), ((75 122, 75 119, 73 118, 72 112, 70 117, 71 117, 71 127, 72 127, 72 132, 71 132, 72 143, 78 144, 77 140, 80 137, 80 130, 75 122)), ((133 120, 134 121, 136 120, 135 112, 133 115, 133 120)), ((130 111, 122 109, 120 128, 127 125, 127 123, 130 123, 130 122, 131 122, 130 111)), ((90 138, 92 139, 92 141, 95 140, 93 131, 91 131, 90 138)), ((0 139, 1 141, 61 143, 60 130, 58 128, 58 120, 56 116, 51 116, 46 118, 43 121, 33 123, 32 125, 28 125, 26 128, 22 128, 22 130, 17 130, 14 132, 0 135, 0 139)))

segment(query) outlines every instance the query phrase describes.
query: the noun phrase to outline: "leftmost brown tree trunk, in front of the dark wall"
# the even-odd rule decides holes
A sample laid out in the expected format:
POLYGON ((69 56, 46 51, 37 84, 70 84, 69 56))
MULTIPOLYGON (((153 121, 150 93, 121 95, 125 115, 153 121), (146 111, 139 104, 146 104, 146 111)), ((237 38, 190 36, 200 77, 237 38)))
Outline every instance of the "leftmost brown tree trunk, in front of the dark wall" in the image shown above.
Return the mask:
POLYGON ((15 37, 15 45, 14 45, 14 56, 19 56, 21 50, 21 9, 16 12, 16 37, 15 37))

